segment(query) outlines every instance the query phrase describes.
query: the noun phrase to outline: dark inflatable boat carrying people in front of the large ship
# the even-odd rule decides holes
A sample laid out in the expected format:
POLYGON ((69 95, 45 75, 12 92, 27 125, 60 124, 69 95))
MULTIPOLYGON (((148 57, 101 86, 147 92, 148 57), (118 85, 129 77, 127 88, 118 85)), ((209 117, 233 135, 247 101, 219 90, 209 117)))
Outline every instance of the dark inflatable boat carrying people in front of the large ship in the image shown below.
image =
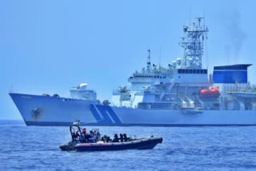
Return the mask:
POLYGON ((162 137, 127 137, 126 133, 114 134, 110 139, 106 135, 101 137, 99 129, 92 129, 87 133, 79 123, 70 125, 72 140, 59 148, 64 151, 104 151, 125 149, 154 149, 158 143, 162 143, 162 137))

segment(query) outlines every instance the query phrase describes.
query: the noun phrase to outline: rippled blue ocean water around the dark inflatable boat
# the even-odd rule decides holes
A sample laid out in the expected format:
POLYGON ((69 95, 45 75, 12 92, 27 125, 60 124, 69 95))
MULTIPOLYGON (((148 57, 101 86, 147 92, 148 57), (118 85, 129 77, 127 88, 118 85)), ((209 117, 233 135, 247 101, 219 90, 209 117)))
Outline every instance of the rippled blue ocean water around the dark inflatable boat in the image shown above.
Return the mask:
MULTIPOLYGON (((87 126, 86 129, 95 127, 87 126)), ((255 170, 255 126, 98 127, 102 134, 161 136, 151 150, 69 153, 69 127, 0 121, 0 170, 255 170)))

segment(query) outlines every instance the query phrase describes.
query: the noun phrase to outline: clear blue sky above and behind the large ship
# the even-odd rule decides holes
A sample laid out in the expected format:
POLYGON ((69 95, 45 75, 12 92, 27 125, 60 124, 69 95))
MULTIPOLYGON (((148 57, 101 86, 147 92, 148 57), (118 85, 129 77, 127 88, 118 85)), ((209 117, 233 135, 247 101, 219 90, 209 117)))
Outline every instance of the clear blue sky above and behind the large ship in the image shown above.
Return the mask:
POLYGON ((88 83, 110 100, 146 66, 148 48, 151 63, 182 58, 182 26, 203 16, 203 66, 253 64, 255 84, 254 0, 0 0, 0 119, 22 119, 10 89, 68 97, 70 87, 88 83))

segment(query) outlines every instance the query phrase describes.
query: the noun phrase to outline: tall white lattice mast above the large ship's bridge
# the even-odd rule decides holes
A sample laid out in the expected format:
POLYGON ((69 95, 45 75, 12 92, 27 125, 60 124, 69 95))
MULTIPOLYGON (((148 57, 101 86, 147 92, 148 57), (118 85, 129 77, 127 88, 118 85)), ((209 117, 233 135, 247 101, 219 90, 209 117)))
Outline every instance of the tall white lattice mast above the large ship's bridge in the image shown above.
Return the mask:
POLYGON ((198 22, 192 22, 193 26, 183 26, 186 38, 178 44, 184 48, 182 68, 202 69, 202 54, 204 37, 209 31, 207 26, 201 26, 202 18, 198 22))

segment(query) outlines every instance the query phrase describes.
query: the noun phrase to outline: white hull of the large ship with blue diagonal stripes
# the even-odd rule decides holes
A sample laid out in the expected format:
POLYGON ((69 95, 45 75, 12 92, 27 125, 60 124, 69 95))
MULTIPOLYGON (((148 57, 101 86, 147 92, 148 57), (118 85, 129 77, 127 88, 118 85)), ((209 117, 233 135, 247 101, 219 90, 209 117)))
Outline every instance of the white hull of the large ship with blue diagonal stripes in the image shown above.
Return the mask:
POLYGON ((107 126, 201 126, 256 125, 255 110, 182 110, 129 109, 101 105, 63 97, 47 97, 10 93, 26 125, 70 125, 74 121, 86 125, 107 126))

